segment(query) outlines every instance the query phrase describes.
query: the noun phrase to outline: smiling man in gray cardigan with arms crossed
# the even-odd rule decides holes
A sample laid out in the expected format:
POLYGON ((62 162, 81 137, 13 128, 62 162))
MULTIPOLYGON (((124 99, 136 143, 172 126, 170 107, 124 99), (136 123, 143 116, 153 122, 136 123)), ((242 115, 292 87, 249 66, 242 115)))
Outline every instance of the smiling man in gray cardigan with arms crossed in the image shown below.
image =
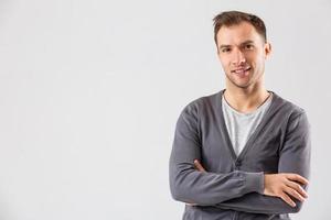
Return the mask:
POLYGON ((175 128, 170 188, 184 220, 290 219, 308 197, 305 111, 264 87, 271 52, 254 14, 214 18, 226 88, 189 103, 175 128))

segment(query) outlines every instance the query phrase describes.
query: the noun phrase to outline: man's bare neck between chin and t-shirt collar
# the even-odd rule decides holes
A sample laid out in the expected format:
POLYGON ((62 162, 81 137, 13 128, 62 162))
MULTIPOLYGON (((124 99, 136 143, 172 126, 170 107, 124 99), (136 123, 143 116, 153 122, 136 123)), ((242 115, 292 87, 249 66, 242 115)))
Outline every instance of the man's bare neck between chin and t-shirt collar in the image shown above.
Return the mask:
POLYGON ((248 88, 226 87, 224 97, 227 103, 235 110, 248 113, 256 110, 269 97, 269 92, 263 86, 248 88))

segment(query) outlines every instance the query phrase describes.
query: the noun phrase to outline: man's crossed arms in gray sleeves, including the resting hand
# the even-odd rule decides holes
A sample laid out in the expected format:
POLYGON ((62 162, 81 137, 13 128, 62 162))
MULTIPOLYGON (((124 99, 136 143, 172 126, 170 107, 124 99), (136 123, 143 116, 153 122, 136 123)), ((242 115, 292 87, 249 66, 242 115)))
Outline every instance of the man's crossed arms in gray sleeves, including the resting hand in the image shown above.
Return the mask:
POLYGON ((192 129, 194 123, 192 118, 183 114, 177 124, 170 157, 170 188, 175 200, 269 215, 298 212, 301 209, 307 198, 306 178, 309 176, 310 163, 305 112, 289 123, 279 153, 278 174, 206 172, 199 163, 201 144, 196 131, 192 129))

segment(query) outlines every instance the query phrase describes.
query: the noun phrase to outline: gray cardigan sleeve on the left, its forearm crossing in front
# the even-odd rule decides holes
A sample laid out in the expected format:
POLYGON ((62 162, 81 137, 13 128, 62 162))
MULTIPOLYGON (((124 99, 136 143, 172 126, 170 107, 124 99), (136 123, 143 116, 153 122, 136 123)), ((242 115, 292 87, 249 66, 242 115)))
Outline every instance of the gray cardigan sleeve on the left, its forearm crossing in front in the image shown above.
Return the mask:
POLYGON ((263 190, 263 173, 202 173, 193 161, 201 160, 197 108, 189 105, 181 112, 169 163, 171 195, 175 200, 212 206, 245 194, 263 190))

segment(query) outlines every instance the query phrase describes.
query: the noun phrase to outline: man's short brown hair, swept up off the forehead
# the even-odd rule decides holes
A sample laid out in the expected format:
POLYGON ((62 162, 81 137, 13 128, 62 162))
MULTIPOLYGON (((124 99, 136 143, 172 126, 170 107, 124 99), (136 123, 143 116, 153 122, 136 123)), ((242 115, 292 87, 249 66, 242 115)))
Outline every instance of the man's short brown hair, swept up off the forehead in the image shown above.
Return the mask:
POLYGON ((217 33, 222 26, 237 25, 242 22, 252 24, 257 33, 267 42, 267 30, 264 21, 257 15, 241 11, 224 11, 217 14, 214 19, 214 40, 217 45, 217 33))

